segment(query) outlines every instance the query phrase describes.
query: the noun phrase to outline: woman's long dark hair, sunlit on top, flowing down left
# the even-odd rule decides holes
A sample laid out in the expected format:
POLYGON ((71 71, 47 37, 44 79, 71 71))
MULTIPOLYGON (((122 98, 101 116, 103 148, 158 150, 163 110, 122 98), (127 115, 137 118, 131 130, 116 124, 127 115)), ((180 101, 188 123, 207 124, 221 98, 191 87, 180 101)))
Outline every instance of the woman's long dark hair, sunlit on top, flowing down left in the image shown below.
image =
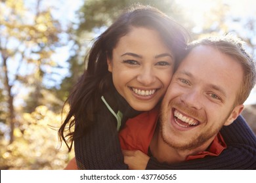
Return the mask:
POLYGON ((112 50, 132 27, 146 27, 157 31, 167 48, 172 50, 176 62, 181 58, 188 42, 186 30, 156 8, 136 5, 121 14, 114 24, 95 39, 89 52, 87 69, 66 101, 70 104, 70 111, 58 134, 67 146, 68 141, 71 141, 69 150, 74 139, 86 133, 95 121, 102 93, 115 90, 112 74, 108 72, 107 58, 112 59, 112 50), (72 131, 74 124, 75 130, 72 131), (64 135, 66 126, 68 133, 64 135))

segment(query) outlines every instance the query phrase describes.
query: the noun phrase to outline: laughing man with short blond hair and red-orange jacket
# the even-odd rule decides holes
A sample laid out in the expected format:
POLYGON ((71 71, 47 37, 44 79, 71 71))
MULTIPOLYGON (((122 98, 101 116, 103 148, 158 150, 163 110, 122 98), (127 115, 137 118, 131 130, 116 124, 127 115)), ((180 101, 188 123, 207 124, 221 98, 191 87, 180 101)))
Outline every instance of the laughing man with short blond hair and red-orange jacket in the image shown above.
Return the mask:
POLYGON ((173 75, 162 101, 160 115, 158 108, 140 114, 129 120, 119 134, 122 148, 144 152, 123 151, 130 169, 145 169, 149 159, 146 154, 168 164, 199 158, 203 163, 207 158, 221 156, 223 165, 212 169, 256 169, 255 137, 246 144, 247 158, 236 151, 228 157, 225 149, 229 147, 219 132, 238 118, 255 86, 255 64, 241 43, 219 37, 188 46, 188 55, 173 75))

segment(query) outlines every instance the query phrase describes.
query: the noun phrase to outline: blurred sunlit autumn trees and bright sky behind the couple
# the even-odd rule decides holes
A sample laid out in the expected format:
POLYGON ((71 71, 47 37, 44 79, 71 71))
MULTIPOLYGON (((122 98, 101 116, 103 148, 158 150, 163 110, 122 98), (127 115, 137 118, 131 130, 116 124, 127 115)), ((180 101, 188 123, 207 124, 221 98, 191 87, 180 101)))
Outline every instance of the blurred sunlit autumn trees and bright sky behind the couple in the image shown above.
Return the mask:
MULTIPOLYGON (((0 169, 65 167, 74 152, 60 147, 57 136, 68 108, 62 114, 64 101, 83 73, 91 40, 123 8, 138 2, 175 18, 193 39, 238 35, 255 57, 253 1, 242 1, 234 10, 234 2, 221 0, 0 0, 0 169), (65 19, 69 13, 72 18, 65 19)), ((254 131, 255 110, 250 97, 244 116, 254 131)))

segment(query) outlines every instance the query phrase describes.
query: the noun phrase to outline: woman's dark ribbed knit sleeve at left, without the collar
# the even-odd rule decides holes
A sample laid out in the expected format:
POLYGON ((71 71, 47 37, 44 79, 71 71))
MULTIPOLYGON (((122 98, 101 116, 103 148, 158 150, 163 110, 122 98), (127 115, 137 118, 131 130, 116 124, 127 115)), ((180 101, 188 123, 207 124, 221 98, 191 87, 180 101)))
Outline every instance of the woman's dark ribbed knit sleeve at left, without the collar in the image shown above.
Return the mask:
POLYGON ((79 169, 127 169, 118 140, 116 121, 102 112, 91 129, 75 140, 75 159, 79 169))

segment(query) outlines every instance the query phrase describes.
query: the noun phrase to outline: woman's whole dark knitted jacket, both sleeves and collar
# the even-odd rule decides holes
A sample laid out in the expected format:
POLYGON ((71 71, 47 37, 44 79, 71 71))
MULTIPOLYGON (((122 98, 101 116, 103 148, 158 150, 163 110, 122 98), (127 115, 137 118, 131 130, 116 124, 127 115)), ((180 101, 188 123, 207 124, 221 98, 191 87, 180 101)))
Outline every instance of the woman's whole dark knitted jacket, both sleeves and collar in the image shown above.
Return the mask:
MULTIPOLYGON (((118 93, 104 95, 115 112, 123 112, 122 124, 139 112, 133 110, 118 93)), ((88 133, 75 140, 75 159, 79 169, 127 169, 118 140, 116 118, 106 115, 108 108, 102 102, 95 124, 88 133)), ((110 113, 110 112, 109 112, 110 113)), ((256 137, 244 118, 239 116, 233 124, 221 129, 226 148, 220 156, 206 156, 181 163, 159 163, 154 157, 146 169, 256 169, 256 137)))

